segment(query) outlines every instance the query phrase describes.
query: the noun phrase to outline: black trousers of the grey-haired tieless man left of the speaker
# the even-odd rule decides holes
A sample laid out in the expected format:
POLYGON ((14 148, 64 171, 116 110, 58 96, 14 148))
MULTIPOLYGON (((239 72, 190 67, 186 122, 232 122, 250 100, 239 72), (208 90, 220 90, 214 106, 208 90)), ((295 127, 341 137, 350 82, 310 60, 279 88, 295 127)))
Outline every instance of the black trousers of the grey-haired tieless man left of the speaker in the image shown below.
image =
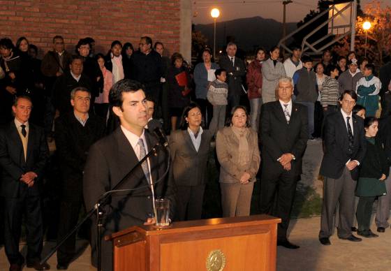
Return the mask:
MULTIPOLYGON (((62 200, 59 216, 59 233, 57 242, 78 224, 79 212, 82 207, 81 200, 62 200)), ((61 244, 57 250, 57 262, 61 264, 69 263, 75 254, 76 235, 75 233, 61 244)))

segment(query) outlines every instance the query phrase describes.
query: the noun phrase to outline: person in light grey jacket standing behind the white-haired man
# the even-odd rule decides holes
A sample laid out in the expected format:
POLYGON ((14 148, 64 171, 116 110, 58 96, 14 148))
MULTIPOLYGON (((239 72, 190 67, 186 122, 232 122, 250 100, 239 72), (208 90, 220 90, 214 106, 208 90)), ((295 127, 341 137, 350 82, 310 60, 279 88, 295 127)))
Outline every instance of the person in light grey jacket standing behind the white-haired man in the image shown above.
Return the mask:
POLYGON ((280 78, 286 77, 285 68, 279 61, 280 49, 278 46, 270 50, 270 58, 262 64, 262 100, 263 103, 276 101, 276 87, 280 78))

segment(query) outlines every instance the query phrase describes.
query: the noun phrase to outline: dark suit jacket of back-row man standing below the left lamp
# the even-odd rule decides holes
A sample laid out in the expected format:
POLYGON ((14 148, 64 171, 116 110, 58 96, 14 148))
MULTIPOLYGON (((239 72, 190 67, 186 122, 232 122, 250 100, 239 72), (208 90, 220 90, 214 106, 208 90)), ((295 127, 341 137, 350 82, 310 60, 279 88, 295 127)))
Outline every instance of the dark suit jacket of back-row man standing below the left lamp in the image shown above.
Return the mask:
POLYGON ((219 59, 219 65, 227 71, 228 96, 244 94, 242 89, 242 76, 246 75, 244 61, 235 57, 235 66, 233 66, 228 55, 224 54, 219 59), (230 73, 233 73, 233 75, 230 75, 230 73))

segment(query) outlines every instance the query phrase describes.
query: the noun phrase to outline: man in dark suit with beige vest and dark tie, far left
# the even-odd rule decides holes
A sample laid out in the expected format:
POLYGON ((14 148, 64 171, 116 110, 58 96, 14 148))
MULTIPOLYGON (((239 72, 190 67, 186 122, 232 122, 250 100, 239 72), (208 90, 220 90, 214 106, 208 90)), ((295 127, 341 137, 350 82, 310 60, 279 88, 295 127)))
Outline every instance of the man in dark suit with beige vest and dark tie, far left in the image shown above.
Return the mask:
POLYGON ((19 252, 22 216, 26 217, 27 267, 49 270, 40 262, 43 223, 40 185, 49 149, 43 129, 29 123, 32 103, 20 96, 13 105, 15 119, 0 131, 1 197, 4 206, 5 250, 10 270, 22 270, 19 252))

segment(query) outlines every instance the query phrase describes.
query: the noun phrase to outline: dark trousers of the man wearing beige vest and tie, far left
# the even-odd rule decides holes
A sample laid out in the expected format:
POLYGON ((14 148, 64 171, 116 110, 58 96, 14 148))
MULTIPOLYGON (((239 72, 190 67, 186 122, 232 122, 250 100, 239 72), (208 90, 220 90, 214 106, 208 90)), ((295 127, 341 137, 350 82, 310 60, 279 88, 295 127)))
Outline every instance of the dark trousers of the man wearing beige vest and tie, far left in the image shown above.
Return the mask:
POLYGON ((10 264, 22 265, 24 258, 19 252, 22 216, 24 214, 27 233, 27 263, 40 261, 43 247, 43 224, 39 196, 3 198, 4 247, 10 264))

